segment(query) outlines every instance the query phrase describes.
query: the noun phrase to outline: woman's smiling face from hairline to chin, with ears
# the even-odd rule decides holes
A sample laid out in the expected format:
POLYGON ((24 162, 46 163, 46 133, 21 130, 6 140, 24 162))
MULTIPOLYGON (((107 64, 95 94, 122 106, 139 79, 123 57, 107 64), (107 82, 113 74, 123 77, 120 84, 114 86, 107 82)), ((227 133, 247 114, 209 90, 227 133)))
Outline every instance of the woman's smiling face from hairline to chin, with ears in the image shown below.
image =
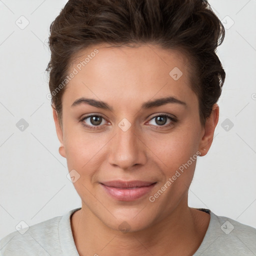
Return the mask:
POLYGON ((187 207, 196 156, 207 152, 217 121, 207 132, 200 124, 188 60, 153 45, 82 53, 68 72, 62 130, 53 111, 82 207, 117 230, 140 230, 187 207))

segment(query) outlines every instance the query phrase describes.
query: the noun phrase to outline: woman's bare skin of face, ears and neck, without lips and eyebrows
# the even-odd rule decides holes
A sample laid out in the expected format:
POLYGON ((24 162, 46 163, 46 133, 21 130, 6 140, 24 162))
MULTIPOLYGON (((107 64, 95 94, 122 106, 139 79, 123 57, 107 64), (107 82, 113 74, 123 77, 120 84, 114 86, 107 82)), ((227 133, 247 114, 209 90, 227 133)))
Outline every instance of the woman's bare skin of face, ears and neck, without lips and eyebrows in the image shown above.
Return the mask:
POLYGON ((208 213, 188 207, 188 188, 195 163, 157 198, 157 192, 189 157, 210 148, 219 108, 213 105, 205 125, 199 120, 198 99, 189 87, 188 59, 181 52, 153 45, 105 47, 94 45, 80 52, 70 71, 87 54, 99 52, 69 82, 62 96, 62 123, 53 109, 59 153, 66 157, 68 170, 80 178, 73 184, 81 198, 81 209, 71 216, 74 242, 80 255, 192 255, 207 230, 208 213), (178 80, 169 72, 177 66, 178 80), (113 110, 89 104, 71 107, 80 97, 102 100, 113 110), (186 103, 167 103, 141 109, 143 102, 174 96, 186 103), (99 125, 89 114, 104 118, 99 125), (175 115, 159 125, 160 114, 175 115), (126 118, 126 131, 118 123, 126 118), (170 126, 167 125, 171 123, 170 126), (133 201, 113 199, 99 181, 146 180, 157 182, 145 196, 133 201), (118 226, 126 221, 127 232, 118 226))

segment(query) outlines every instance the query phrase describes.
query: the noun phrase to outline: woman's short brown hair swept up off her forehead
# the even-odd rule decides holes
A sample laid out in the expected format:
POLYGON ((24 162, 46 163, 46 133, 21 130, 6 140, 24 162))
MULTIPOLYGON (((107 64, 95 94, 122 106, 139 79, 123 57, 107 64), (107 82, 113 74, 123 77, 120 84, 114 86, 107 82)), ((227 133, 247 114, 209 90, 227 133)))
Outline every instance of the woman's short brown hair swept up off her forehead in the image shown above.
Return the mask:
POLYGON ((68 0, 50 24, 51 105, 62 123, 64 86, 71 59, 93 44, 151 43, 179 49, 189 57, 191 89, 199 101, 201 124, 217 102, 225 71, 215 53, 225 30, 206 0, 68 0))

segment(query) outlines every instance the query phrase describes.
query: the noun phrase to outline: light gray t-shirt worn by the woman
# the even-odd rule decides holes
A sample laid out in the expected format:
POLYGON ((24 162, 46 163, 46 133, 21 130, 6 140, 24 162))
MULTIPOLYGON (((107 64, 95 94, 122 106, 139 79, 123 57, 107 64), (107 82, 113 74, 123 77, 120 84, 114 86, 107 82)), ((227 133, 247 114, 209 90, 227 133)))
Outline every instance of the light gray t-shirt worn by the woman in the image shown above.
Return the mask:
MULTIPOLYGON (((70 216, 56 216, 25 229, 14 231, 0 240, 0 256, 79 256, 72 236, 70 216)), ((256 228, 233 219, 217 216, 209 209, 208 229, 193 256, 256 255, 256 228)), ((157 256, 157 255, 155 255, 157 256)))

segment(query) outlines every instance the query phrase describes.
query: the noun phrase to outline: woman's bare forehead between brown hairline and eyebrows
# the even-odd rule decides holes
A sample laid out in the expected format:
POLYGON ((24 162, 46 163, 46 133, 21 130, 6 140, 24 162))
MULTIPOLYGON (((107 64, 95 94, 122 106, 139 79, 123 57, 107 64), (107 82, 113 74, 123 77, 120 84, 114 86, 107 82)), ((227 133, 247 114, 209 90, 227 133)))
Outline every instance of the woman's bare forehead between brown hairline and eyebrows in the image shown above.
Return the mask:
POLYGON ((191 100, 188 61, 178 50, 149 44, 90 46, 71 61, 68 73, 76 70, 76 74, 68 82, 63 97, 69 103, 88 95, 122 103, 166 94, 191 100))

